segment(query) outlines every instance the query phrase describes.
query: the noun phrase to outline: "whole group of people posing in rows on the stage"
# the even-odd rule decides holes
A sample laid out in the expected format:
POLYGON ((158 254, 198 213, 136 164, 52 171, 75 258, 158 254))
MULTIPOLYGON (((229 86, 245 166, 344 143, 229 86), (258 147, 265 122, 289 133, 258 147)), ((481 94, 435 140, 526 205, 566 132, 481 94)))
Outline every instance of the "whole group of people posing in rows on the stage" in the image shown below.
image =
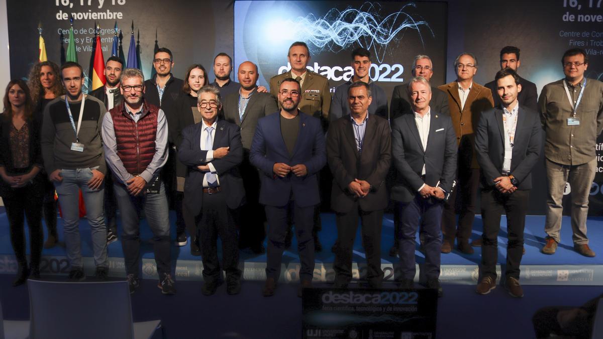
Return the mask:
POLYGON ((211 84, 202 65, 191 65, 185 80, 175 78, 167 48, 154 54, 156 75, 147 81, 139 70, 124 69, 119 58, 110 57, 106 85, 87 95, 80 65, 67 62, 59 69, 39 63, 29 84, 8 84, 0 128, 0 196, 19 263, 14 284, 23 284, 30 274, 39 277, 42 247, 57 241, 54 191, 63 214, 69 279, 85 278, 78 231, 81 191, 99 279, 107 278, 107 244, 117 239, 119 209, 130 292, 139 286, 144 212, 153 232, 158 287, 174 294, 168 218, 173 208, 176 244, 190 239, 192 255, 202 257, 203 294, 215 293, 224 280, 227 293, 239 293, 239 249, 250 248, 267 252, 262 293, 273 296, 294 230, 301 296, 312 286, 314 253, 322 247, 318 205, 330 185, 336 288, 347 288, 352 279, 358 221, 365 278, 369 287, 382 287, 382 219, 393 200, 396 240, 390 255, 400 257, 400 288, 414 287, 420 229, 426 287, 442 295, 441 253, 451 252, 456 241, 462 253, 482 247, 476 291, 489 293, 496 287, 504 213, 505 287, 522 297, 523 230, 543 132, 548 210, 542 252, 555 253, 561 240, 561 198, 569 182, 575 250, 595 256, 586 216, 596 138, 603 128, 603 83, 584 77, 586 52, 569 49, 561 59, 566 77, 546 85, 538 99, 535 84, 517 74, 519 57, 519 48, 503 48, 500 71, 481 86, 473 81, 478 60, 463 52, 454 63, 457 79, 434 87, 431 59, 417 55, 411 80, 394 88, 389 109, 384 90, 370 80, 371 54, 364 48, 352 52, 354 74, 333 96, 327 78, 306 68, 311 55, 303 42, 291 45, 291 70, 271 78, 269 90, 257 86, 258 69, 251 62, 239 65, 239 82, 230 80, 232 59, 224 53, 213 61, 211 84), (478 188, 484 232, 470 243, 478 188), (49 234, 44 245, 42 211, 49 234))

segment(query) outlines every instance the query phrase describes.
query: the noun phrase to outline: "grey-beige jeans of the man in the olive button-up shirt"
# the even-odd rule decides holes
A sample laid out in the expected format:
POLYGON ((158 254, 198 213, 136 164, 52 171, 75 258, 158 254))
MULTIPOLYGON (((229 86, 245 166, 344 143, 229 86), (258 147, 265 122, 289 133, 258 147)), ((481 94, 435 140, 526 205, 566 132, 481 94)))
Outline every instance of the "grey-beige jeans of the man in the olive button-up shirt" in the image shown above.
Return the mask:
POLYGON ((572 239, 575 244, 588 244, 586 237, 586 217, 589 213, 590 187, 595 179, 593 159, 581 165, 561 165, 546 159, 546 177, 548 178, 548 195, 546 198, 545 232, 549 237, 561 242, 561 214, 563 213, 563 192, 566 183, 570 185, 572 197, 572 239))

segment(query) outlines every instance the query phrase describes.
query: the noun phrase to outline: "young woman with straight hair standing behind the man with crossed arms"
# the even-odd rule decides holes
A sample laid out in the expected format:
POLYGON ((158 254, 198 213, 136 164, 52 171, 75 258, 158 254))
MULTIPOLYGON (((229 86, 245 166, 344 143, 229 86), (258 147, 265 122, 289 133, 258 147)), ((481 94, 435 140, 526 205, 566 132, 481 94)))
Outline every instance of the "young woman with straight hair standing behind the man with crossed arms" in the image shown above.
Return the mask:
MULTIPOLYGON (((170 133, 177 148, 180 147, 180 143, 182 142, 182 130, 188 125, 201 121, 201 113, 197 109, 197 91, 207 83, 209 83, 207 81, 207 72, 203 66, 195 64, 188 68, 185 83, 182 86, 183 94, 180 95, 175 107, 176 116, 174 120, 176 120, 176 123, 172 124, 173 127, 170 128, 170 133)), ((197 242, 197 227, 194 217, 186 209, 183 210, 182 208, 185 177, 186 166, 180 160, 176 160, 176 244, 178 246, 186 245, 186 227, 191 235, 191 254, 199 256, 201 255, 201 250, 197 242)))

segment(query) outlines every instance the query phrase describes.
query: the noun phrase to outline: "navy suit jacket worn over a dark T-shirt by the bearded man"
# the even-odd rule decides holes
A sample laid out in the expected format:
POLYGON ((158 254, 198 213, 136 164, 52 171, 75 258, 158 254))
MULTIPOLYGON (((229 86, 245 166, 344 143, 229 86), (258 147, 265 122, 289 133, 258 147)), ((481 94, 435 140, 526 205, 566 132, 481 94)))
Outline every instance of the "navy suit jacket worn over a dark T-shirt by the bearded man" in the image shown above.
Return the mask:
POLYGON ((320 203, 317 173, 327 162, 324 150, 324 133, 317 118, 299 112, 300 129, 293 155, 289 151, 280 133, 280 113, 271 114, 257 121, 256 134, 249 160, 260 170, 261 204, 285 206, 290 199, 300 207, 314 206, 320 203), (308 174, 297 177, 290 172, 285 177, 276 176, 273 166, 283 162, 290 166, 303 163, 308 174))

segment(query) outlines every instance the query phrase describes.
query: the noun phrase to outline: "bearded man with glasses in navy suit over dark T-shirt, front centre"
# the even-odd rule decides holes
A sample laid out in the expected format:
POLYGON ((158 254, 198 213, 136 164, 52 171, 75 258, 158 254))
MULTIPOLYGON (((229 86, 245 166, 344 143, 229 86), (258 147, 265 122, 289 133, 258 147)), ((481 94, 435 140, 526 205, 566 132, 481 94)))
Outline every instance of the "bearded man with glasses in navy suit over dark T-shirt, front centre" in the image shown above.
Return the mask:
POLYGON ((314 274, 312 220, 320 203, 317 173, 326 163, 320 120, 297 109, 300 85, 280 82, 280 113, 259 119, 251 144, 250 161, 260 170, 260 203, 268 217, 266 284, 262 294, 272 296, 280 276, 285 249, 289 206, 293 205, 297 249, 300 253, 300 289, 311 287, 314 274))

